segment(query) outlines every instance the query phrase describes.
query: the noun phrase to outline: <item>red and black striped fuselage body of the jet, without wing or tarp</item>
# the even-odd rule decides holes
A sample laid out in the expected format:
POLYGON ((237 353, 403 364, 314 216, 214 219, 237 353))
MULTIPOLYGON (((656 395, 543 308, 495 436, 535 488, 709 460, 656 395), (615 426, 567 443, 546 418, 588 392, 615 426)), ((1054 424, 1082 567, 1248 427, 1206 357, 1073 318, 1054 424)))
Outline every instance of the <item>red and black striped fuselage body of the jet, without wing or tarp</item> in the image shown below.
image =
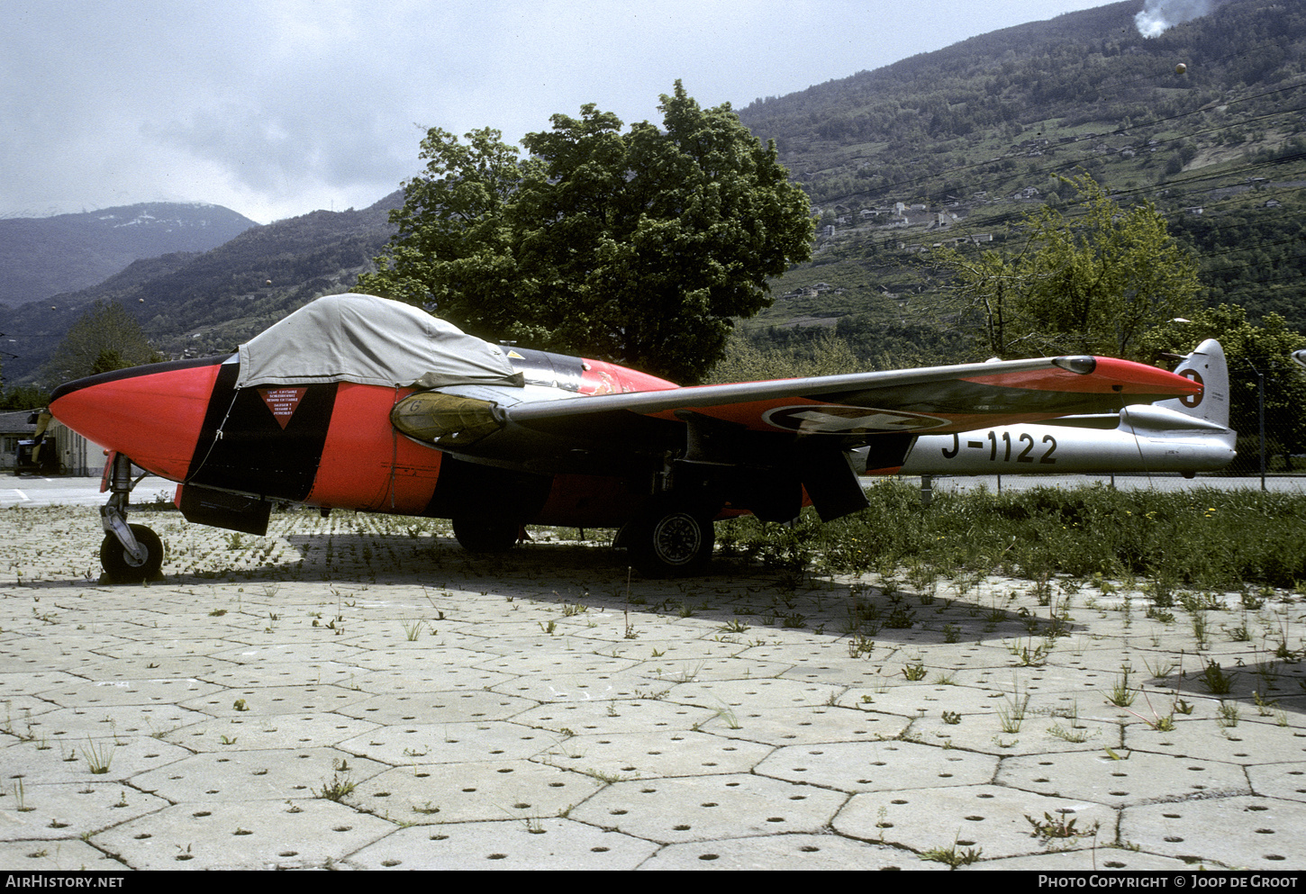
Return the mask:
MULTIPOLYGON (((675 388, 615 364, 543 351, 513 350, 512 363, 528 384, 575 395, 675 388)), ((624 521, 646 489, 624 474, 542 474, 529 470, 529 462, 511 470, 460 461, 390 425, 392 407, 411 388, 320 382, 235 389, 238 372, 234 355, 120 369, 60 386, 50 411, 107 450, 183 483, 182 501, 185 489, 192 496, 212 491, 206 496, 219 502, 217 495, 226 493, 440 518, 478 504, 499 505, 533 523, 599 526, 624 521)), ((654 428, 674 440, 680 427, 654 428)), ((650 455, 663 449, 653 441, 648 446, 650 455)), ((632 455, 626 466, 603 471, 635 472, 646 458, 632 455)), ((196 521, 222 525, 221 514, 196 521)))

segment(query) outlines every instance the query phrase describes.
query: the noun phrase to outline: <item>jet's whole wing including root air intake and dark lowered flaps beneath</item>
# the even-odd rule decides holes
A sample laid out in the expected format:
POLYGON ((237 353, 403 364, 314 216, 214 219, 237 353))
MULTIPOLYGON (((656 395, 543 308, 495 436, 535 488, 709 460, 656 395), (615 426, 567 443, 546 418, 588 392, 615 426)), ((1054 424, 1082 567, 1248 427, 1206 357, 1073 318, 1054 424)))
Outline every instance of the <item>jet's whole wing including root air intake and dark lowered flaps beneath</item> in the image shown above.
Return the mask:
MULTIPOLYGON (((825 521, 865 508, 850 449, 902 465, 914 436, 1119 411, 1202 385, 1091 356, 815 378, 670 386, 624 394, 456 385, 396 405, 394 425, 471 462, 541 474, 639 479, 666 470, 735 509, 781 521, 806 492, 825 521)), ((693 489, 693 488, 691 488, 693 489)))

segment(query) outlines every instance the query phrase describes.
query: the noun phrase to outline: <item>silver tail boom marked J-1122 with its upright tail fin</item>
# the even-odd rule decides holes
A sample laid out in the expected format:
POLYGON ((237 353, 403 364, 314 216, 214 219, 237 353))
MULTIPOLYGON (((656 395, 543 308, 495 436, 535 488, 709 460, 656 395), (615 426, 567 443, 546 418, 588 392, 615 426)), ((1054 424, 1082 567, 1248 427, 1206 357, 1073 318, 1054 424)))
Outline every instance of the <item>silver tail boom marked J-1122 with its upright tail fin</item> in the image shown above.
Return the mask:
MULTIPOLYGON (((1127 406, 1119 412, 1062 416, 952 435, 921 435, 899 467, 902 475, 1030 475, 1183 472, 1224 469, 1234 458, 1229 428, 1229 369, 1220 342, 1207 339, 1174 371, 1203 385, 1200 394, 1127 406)), ((854 452, 867 471, 866 450, 854 452)), ((892 474, 892 472, 889 472, 892 474)))

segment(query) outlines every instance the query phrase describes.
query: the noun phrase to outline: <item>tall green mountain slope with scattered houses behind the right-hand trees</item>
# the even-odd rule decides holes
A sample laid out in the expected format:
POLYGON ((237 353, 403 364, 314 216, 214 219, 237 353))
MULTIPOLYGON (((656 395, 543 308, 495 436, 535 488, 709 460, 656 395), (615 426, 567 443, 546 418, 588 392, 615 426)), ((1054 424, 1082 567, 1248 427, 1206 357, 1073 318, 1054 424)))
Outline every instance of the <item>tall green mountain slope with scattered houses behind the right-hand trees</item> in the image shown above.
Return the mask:
POLYGON ((1000 248, 1028 211, 1071 198, 1059 177, 1087 171, 1123 206, 1156 204, 1208 303, 1306 329, 1306 4, 1229 0, 1155 38, 1139 8, 994 31, 742 110, 821 215, 814 262, 777 283, 763 322, 838 320, 854 341, 912 328, 942 350, 948 274, 929 249, 1000 248))

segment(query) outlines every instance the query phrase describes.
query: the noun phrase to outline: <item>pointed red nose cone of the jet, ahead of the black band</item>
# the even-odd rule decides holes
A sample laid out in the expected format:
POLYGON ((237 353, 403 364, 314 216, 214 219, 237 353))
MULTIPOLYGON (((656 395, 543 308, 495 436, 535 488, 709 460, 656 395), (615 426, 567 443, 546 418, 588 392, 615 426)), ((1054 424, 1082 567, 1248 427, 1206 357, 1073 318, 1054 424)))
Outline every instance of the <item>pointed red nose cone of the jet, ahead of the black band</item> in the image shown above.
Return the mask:
POLYGON ((118 369, 55 389, 50 412, 88 441, 155 475, 187 476, 221 359, 118 369))

